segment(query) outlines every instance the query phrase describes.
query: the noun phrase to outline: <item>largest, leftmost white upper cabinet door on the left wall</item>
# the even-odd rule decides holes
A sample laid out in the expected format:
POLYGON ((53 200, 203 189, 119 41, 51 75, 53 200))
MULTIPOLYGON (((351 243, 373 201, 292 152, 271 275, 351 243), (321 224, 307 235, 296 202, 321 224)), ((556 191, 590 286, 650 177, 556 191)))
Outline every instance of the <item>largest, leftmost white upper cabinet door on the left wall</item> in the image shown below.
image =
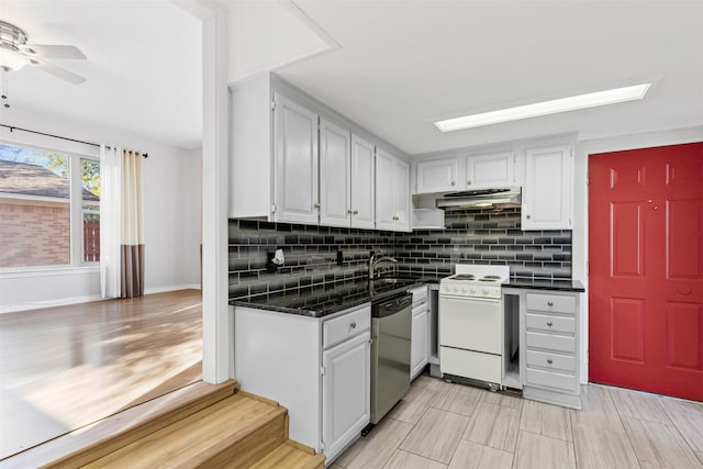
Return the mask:
POLYGON ((317 114, 280 94, 275 99, 275 219, 317 224, 317 114))

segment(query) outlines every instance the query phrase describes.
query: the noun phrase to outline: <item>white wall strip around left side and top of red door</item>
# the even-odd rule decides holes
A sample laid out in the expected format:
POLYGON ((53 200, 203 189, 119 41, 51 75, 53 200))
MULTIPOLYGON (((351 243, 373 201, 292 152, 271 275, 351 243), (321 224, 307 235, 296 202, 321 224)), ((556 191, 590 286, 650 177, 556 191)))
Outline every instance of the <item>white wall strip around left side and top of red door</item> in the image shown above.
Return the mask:
POLYGON ((689 129, 648 132, 623 135, 612 138, 600 138, 579 142, 574 159, 574 206, 572 233, 572 277, 585 286, 585 294, 581 295, 581 382, 588 382, 588 345, 589 345, 589 194, 587 186, 588 157, 592 154, 620 152, 634 148, 648 148, 662 145, 676 145, 703 142, 703 125, 689 129))

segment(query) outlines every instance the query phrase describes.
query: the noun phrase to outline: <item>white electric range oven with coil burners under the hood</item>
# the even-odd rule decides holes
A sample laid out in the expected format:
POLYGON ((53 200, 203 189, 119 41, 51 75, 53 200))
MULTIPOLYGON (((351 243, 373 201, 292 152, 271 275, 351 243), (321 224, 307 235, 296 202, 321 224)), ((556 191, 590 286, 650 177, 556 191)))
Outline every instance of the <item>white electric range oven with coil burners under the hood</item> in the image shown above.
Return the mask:
POLYGON ((501 283, 509 266, 458 264, 439 281, 439 369, 500 389, 503 353, 501 283))

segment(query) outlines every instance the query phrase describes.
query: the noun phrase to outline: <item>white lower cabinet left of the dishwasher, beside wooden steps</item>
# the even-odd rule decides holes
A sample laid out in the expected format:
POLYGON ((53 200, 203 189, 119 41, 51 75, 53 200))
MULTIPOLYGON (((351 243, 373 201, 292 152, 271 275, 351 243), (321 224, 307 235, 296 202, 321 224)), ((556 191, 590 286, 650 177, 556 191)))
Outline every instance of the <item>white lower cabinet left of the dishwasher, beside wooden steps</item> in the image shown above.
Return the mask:
POLYGON ((370 305, 326 317, 232 310, 242 390, 287 407, 290 439, 330 465, 370 420, 370 305))

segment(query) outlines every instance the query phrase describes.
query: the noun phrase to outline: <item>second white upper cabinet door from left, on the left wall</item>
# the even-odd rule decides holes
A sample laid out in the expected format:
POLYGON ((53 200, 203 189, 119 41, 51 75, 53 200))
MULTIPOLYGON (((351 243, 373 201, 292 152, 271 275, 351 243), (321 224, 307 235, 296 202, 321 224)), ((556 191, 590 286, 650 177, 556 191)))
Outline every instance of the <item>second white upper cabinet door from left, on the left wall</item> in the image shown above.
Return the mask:
POLYGON ((320 120, 320 224, 349 226, 352 219, 352 134, 320 120))

